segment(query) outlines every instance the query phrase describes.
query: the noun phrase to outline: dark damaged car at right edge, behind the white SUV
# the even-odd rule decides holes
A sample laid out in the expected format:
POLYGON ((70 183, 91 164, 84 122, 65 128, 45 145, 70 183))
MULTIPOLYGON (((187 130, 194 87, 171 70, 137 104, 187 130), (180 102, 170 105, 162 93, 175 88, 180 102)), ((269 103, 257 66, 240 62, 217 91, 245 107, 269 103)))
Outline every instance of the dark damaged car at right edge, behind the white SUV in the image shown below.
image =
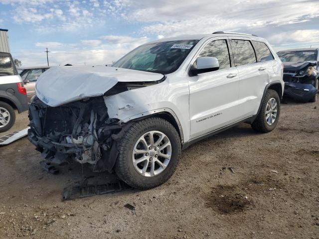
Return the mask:
POLYGON ((284 64, 284 95, 303 102, 316 102, 319 89, 319 48, 277 52, 284 64))

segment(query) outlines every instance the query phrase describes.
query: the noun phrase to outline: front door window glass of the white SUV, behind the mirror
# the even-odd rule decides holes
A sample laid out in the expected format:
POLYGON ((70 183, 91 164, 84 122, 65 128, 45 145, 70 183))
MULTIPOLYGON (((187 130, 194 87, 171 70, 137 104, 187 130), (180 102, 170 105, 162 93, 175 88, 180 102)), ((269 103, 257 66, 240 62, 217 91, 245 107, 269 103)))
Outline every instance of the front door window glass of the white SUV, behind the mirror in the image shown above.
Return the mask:
POLYGON ((230 58, 226 40, 214 40, 209 42, 198 55, 198 57, 203 56, 216 57, 219 63, 219 70, 230 67, 230 58))

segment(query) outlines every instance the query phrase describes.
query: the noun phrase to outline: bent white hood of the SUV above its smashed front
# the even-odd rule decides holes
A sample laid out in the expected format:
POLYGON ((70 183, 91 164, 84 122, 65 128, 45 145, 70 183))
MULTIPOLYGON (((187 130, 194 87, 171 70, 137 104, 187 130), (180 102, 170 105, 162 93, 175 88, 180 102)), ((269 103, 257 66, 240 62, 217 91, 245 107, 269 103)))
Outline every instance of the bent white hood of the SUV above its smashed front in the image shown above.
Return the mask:
POLYGON ((162 74, 107 66, 51 67, 37 80, 36 96, 56 107, 89 97, 103 96, 118 82, 159 81, 162 74))

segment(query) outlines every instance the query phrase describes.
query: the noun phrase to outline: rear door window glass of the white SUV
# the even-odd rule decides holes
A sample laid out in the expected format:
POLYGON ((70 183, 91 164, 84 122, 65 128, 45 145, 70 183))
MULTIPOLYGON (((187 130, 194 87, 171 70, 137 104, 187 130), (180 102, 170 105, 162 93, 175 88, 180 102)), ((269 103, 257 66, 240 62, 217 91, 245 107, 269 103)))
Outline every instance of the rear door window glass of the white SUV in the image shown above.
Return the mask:
POLYGON ((230 41, 231 49, 234 54, 235 66, 243 66, 256 63, 255 51, 250 41, 235 39, 232 39, 230 41))

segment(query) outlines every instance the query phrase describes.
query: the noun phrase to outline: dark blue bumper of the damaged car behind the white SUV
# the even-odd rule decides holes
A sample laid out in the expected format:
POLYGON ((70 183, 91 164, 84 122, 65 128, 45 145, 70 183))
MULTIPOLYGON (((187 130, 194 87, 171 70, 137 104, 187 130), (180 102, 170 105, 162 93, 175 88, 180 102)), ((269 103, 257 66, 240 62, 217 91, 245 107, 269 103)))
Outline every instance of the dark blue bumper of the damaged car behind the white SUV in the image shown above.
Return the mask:
POLYGON ((310 101, 318 90, 311 84, 286 82, 284 95, 298 101, 310 101))

